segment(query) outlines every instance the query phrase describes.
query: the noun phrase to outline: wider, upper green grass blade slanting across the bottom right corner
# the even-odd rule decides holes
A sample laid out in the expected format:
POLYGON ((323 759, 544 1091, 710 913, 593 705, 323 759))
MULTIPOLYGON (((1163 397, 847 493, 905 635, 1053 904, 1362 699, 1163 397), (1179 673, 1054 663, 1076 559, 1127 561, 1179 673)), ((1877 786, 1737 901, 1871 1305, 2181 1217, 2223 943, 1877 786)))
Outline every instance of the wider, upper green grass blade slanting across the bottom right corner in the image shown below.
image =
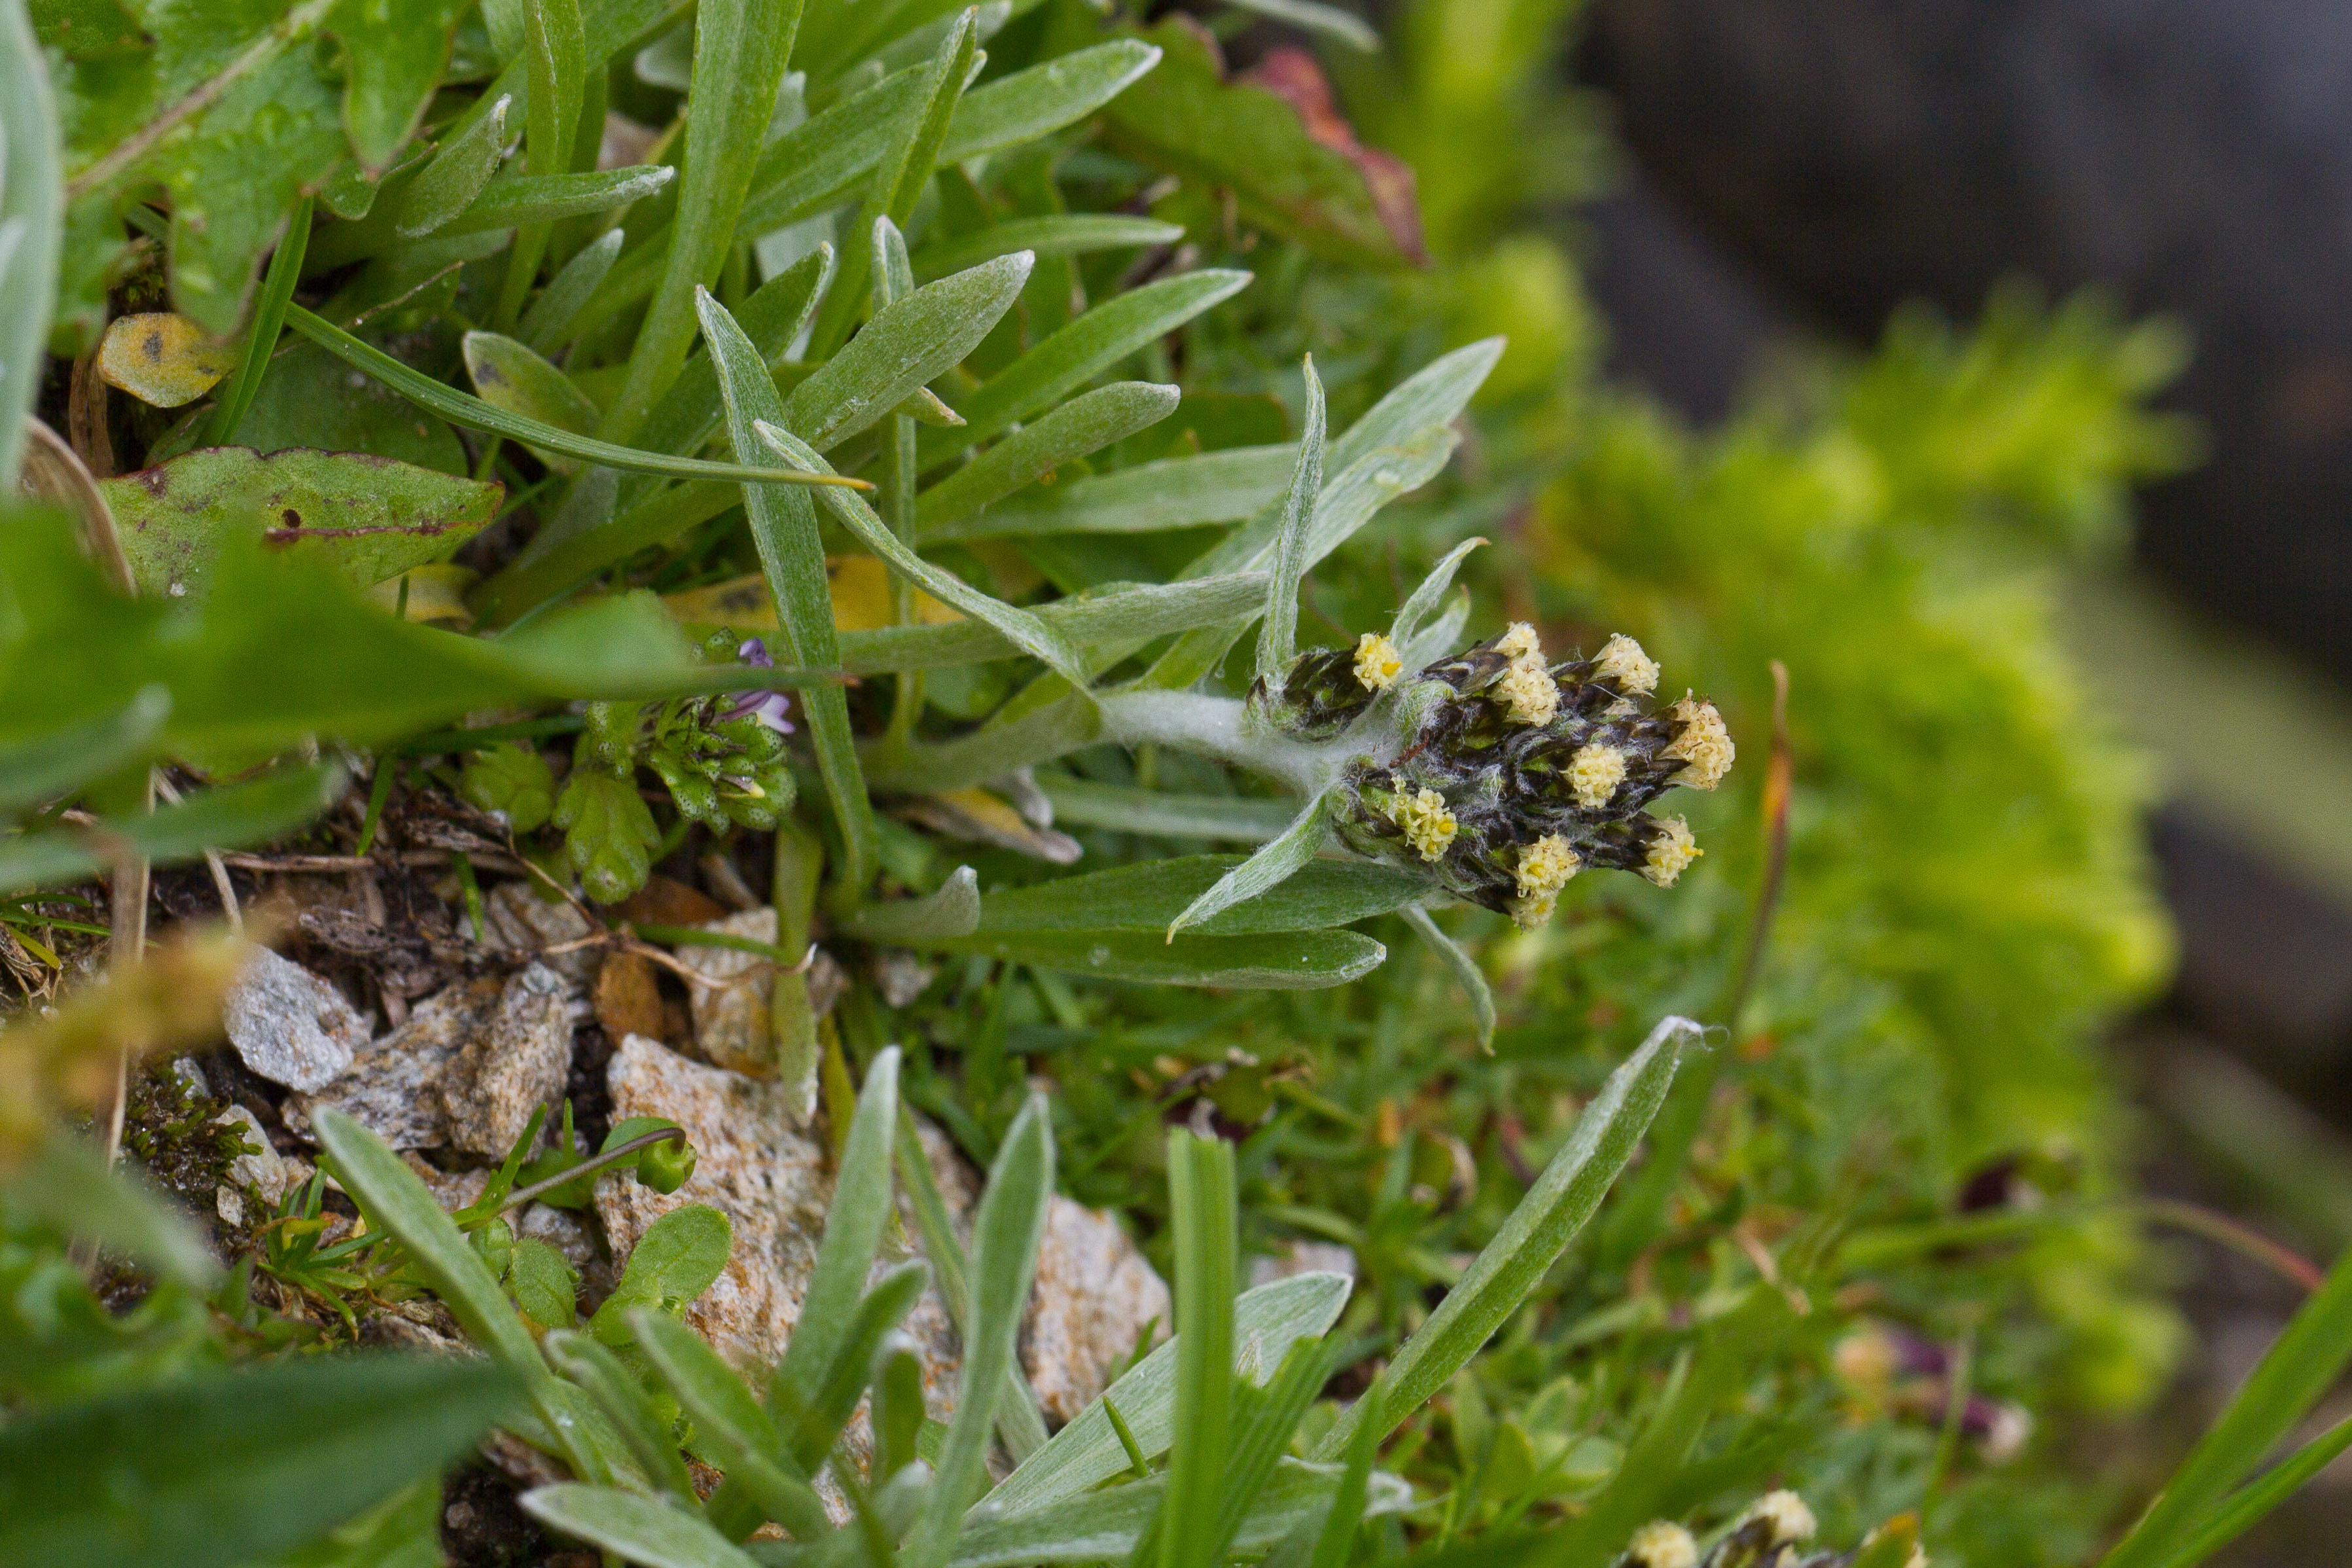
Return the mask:
POLYGON ((2169 1561, 2220 1500, 2296 1429, 2352 1361, 2352 1251, 2336 1260, 2270 1352, 2103 1568, 2169 1561))

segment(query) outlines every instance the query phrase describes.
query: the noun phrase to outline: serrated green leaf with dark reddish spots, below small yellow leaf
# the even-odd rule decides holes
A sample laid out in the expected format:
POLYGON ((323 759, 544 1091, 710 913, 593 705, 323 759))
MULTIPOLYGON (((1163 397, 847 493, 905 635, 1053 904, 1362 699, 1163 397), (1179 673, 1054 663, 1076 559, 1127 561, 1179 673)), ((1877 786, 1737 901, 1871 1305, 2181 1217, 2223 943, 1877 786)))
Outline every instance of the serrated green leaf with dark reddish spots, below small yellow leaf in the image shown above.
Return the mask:
POLYGON ((360 451, 188 451, 101 480, 141 592, 205 595, 230 538, 310 557, 353 588, 445 559, 499 515, 503 484, 360 451))

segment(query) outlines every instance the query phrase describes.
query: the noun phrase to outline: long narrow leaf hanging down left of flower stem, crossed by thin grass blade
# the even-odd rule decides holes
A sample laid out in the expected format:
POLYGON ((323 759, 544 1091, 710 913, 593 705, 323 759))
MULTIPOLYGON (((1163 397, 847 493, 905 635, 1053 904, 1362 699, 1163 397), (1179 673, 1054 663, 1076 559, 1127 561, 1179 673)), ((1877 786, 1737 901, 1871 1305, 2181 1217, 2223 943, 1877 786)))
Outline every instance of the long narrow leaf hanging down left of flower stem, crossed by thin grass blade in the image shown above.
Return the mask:
MULTIPOLYGON (((762 451, 757 425, 783 418, 783 400, 760 360, 760 350, 727 308, 701 296, 703 341, 720 376, 727 404, 727 430, 736 454, 762 451)), ((816 531, 816 505, 804 491, 767 484, 743 487, 743 510, 750 515, 753 543, 776 595, 776 618, 793 651, 793 663, 830 670, 840 665, 833 639, 833 588, 826 576, 826 543, 816 531)), ((851 893, 873 882, 877 830, 866 778, 858 771, 856 736, 849 729, 849 698, 840 691, 811 691, 802 701, 809 741, 816 745, 816 771, 833 802, 833 820, 842 832, 842 886, 851 893)))

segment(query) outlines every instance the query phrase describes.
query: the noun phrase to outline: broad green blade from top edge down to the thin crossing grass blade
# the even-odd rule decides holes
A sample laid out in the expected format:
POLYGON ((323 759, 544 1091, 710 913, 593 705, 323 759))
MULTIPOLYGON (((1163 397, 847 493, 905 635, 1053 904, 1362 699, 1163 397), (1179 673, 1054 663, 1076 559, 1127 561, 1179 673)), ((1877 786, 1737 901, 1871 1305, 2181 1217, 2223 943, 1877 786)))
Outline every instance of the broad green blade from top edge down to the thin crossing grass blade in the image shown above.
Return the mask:
MULTIPOLYGON (((703 0, 694 9, 694 92, 687 96, 687 176, 661 287, 628 355, 628 378, 602 435, 626 442, 677 378, 694 343, 696 296, 720 280, 750 193, 776 89, 800 31, 802 0, 703 0)), ((741 449, 741 444, 739 444, 741 449)))

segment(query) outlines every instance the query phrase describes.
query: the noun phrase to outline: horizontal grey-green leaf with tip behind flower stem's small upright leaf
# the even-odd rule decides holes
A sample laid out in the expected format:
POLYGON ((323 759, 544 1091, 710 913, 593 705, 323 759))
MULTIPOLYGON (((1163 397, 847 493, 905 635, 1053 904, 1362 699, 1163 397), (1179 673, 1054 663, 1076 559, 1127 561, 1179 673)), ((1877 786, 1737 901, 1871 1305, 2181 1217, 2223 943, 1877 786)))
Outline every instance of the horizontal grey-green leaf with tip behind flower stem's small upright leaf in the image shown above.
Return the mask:
POLYGON ((1065 480, 946 522, 924 531, 924 541, 1157 534, 1237 522, 1282 496, 1296 458, 1296 447, 1235 447, 1065 480))

